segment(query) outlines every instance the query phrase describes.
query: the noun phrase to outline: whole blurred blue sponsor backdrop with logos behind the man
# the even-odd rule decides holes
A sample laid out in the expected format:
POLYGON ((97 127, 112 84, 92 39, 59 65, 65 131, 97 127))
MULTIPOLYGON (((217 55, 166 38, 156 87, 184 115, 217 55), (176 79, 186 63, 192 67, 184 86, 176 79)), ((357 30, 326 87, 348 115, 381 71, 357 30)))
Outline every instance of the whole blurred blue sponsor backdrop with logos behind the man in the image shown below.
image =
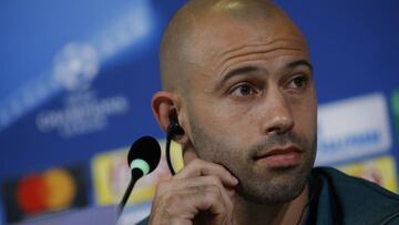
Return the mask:
MULTIPOLYGON (((0 2, 1 224, 114 223, 130 144, 152 135, 164 146, 150 101, 161 89, 162 31, 184 2, 0 2)), ((310 45, 316 164, 398 192, 399 1, 276 2, 310 45)), ((145 217, 168 176, 163 161, 119 223, 145 217)))

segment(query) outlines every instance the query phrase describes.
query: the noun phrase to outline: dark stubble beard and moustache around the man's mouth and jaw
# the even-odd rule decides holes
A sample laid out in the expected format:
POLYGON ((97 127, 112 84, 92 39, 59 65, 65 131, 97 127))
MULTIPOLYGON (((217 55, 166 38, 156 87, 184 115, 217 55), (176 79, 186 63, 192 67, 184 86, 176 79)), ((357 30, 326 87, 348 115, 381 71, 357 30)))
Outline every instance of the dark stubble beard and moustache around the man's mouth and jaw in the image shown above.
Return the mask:
MULTIPOLYGON (((297 197, 305 188, 316 156, 316 135, 314 140, 300 139, 291 133, 276 135, 247 149, 229 146, 217 140, 215 135, 206 134, 197 124, 192 123, 192 140, 194 151, 200 158, 214 162, 226 167, 239 184, 236 192, 244 200, 270 205, 284 203, 297 197), (270 177, 258 175, 252 168, 253 155, 270 146, 295 143, 305 150, 303 162, 297 167, 270 170, 270 177)), ((260 172, 262 173, 262 172, 260 172)))

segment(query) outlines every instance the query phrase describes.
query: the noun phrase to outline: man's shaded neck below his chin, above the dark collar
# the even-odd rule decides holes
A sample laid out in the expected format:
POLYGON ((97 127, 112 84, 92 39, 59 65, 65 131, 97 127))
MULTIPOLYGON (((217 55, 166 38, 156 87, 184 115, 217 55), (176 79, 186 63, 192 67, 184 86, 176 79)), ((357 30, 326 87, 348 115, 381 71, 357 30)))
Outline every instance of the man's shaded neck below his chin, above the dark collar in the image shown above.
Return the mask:
POLYGON ((260 205, 235 196, 234 224, 296 225, 301 221, 307 202, 308 186, 296 198, 286 203, 260 205))

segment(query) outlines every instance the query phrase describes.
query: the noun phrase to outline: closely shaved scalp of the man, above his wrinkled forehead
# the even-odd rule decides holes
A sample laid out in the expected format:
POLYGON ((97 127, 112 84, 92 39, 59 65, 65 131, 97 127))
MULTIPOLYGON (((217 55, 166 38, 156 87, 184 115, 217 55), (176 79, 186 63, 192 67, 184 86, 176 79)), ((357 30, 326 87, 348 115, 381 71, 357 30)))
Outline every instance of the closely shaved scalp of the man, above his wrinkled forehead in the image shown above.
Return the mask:
POLYGON ((202 68, 202 62, 214 53, 212 49, 246 32, 244 27, 255 29, 260 39, 273 35, 276 29, 303 39, 290 19, 268 0, 192 0, 178 10, 164 32, 160 49, 163 89, 185 93, 193 73, 212 70, 202 68))

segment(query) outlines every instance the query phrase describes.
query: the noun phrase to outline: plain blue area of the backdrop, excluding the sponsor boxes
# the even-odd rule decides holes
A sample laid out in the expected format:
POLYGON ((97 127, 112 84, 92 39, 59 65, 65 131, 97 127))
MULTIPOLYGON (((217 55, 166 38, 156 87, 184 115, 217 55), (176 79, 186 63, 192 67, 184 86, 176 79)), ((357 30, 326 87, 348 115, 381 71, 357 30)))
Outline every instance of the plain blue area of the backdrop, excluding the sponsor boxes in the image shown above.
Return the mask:
MULTIPOLYGON (((0 2, 0 181, 81 163, 142 135, 163 137, 150 108, 158 43, 185 1, 0 2)), ((399 1, 276 1, 310 45, 320 105, 399 88, 399 1)), ((370 119, 372 120, 372 117, 370 119)), ((372 154, 371 154, 372 155, 372 154)), ((350 158, 349 158, 350 160, 350 158)))

